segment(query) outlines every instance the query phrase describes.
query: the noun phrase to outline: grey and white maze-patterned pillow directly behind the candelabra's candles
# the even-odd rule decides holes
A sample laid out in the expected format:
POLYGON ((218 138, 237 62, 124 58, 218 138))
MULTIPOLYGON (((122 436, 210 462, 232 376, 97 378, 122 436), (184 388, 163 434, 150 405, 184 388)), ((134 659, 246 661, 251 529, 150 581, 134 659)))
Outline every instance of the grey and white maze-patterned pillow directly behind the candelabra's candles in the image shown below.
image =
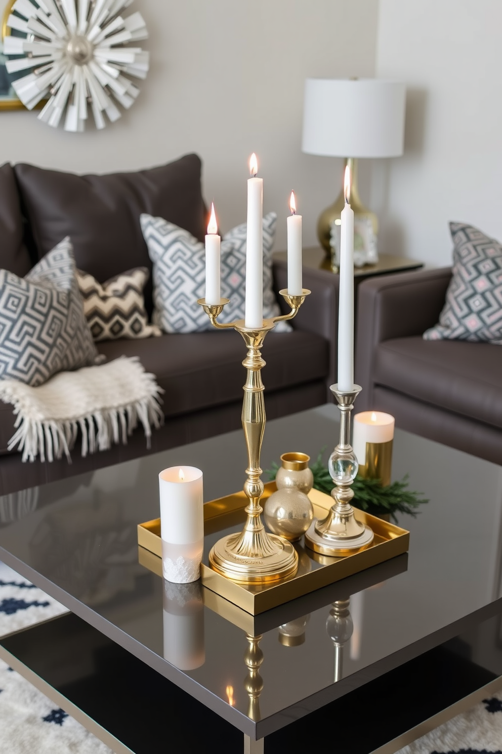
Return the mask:
MULTIPOLYGON (((272 290, 272 247, 277 215, 263 218, 263 317, 281 312, 272 290)), ((141 215, 141 230, 154 262, 154 316, 166 333, 200 333, 211 329, 208 316, 196 301, 205 292, 205 248, 188 231, 161 217, 141 215)), ((233 322, 245 315, 246 225, 237 225, 221 240, 221 296, 230 299, 218 317, 233 322)), ((279 322, 275 331, 291 326, 279 322)))

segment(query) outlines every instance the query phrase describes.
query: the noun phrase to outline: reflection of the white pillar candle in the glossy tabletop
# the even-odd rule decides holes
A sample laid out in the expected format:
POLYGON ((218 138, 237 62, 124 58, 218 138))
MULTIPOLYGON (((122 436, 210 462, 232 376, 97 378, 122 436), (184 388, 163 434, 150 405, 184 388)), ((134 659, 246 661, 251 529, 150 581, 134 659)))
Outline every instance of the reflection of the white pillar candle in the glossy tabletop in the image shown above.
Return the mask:
POLYGON ((180 670, 205 663, 204 605, 201 586, 164 581, 164 658, 180 670))

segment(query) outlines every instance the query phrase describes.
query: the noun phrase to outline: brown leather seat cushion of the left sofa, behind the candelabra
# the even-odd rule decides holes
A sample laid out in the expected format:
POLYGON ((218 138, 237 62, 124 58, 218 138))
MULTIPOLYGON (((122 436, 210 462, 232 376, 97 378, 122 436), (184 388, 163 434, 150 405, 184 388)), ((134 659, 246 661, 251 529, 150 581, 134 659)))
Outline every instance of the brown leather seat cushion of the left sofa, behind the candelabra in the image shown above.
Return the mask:
MULTIPOLYGON (((98 348, 108 359, 137 355, 166 391, 163 409, 167 417, 242 400, 246 351, 242 336, 233 330, 103 341, 98 348)), ((327 341, 312 333, 294 330, 269 335, 262 348, 265 403, 267 392, 325 379, 327 351, 327 341)))

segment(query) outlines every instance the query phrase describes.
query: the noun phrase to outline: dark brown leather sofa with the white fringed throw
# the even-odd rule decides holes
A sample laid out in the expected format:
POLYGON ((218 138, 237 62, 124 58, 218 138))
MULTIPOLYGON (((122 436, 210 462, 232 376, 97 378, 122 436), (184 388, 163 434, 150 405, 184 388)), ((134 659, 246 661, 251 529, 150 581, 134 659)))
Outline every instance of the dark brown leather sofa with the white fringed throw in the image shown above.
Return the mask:
MULTIPOLYGON (((99 281, 151 261, 139 227, 139 215, 163 216, 205 234, 206 210, 196 155, 138 173, 75 176, 32 165, 0 167, 0 266, 23 276, 66 235, 77 266, 99 281)), ((276 293, 287 287, 284 262, 273 268, 276 293)), ((338 277, 305 271, 312 290, 292 333, 270 333, 263 347, 263 382, 268 418, 325 403, 327 385, 335 381, 338 277)), ((152 308, 151 285, 145 303, 152 308)), ((281 296, 279 303, 284 307, 281 296)), ((284 308, 284 311, 286 309, 284 308)), ((163 335, 144 340, 101 342, 109 359, 136 355, 163 388, 165 425, 154 431, 151 451, 180 446, 240 426, 245 344, 235 332, 163 335)), ((23 464, 8 452, 14 434, 12 406, 0 402, 0 494, 35 486, 128 460, 148 452, 141 429, 127 446, 114 446, 81 458, 80 443, 65 459, 23 464)))

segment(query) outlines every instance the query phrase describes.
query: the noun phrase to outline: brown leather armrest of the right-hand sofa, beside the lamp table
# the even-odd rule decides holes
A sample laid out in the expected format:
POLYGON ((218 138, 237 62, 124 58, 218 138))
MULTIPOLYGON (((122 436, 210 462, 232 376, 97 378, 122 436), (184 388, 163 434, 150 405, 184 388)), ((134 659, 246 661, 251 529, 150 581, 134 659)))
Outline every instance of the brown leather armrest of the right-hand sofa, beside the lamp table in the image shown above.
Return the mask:
POLYGON ((360 411, 373 403, 373 360, 379 343, 424 333, 440 317, 452 269, 382 275, 357 291, 355 381, 362 386, 360 411))

